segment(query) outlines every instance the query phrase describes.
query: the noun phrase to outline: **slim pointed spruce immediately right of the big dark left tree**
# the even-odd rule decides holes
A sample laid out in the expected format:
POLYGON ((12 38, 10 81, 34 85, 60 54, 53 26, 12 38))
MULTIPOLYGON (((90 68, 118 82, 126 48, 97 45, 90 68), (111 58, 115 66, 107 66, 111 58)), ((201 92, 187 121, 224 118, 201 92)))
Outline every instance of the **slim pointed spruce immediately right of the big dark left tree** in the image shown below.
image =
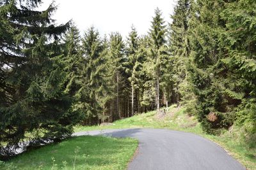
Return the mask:
POLYGON ((84 108, 81 107, 83 101, 79 98, 79 92, 84 86, 84 57, 81 49, 81 37, 79 35, 79 30, 72 24, 70 29, 65 34, 65 48, 63 55, 60 56, 61 64, 63 64, 63 71, 65 71, 67 78, 64 83, 66 87, 65 92, 70 94, 74 103, 70 110, 79 113, 79 122, 84 120, 84 108))

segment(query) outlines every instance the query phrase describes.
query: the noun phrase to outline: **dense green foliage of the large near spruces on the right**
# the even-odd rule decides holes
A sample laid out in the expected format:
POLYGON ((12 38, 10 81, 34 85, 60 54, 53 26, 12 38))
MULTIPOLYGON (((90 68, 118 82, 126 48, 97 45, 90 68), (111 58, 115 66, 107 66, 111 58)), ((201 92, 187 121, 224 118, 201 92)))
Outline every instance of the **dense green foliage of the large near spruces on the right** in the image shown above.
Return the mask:
POLYGON ((207 132, 235 121, 248 134, 255 132, 254 9, 253 1, 191 3, 186 69, 196 96, 195 112, 207 132))

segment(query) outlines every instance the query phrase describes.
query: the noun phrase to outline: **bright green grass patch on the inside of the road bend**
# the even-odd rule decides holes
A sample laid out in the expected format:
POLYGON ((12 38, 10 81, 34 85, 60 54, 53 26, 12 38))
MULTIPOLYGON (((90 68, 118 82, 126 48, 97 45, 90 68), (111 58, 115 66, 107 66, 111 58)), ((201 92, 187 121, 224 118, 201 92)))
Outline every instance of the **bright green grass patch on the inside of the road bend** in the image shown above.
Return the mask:
POLYGON ((126 169, 137 147, 131 138, 79 136, 0 162, 0 169, 126 169))

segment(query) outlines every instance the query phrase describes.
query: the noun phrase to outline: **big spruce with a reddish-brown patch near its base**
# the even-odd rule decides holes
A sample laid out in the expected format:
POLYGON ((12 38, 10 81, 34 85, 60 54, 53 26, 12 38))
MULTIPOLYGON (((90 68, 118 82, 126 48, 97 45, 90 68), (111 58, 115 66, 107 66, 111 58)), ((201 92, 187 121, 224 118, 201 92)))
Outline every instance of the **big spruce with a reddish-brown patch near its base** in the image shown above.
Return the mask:
POLYGON ((197 99, 198 120, 205 131, 214 133, 218 128, 232 125, 236 105, 225 92, 230 80, 221 61, 226 56, 220 41, 225 32, 225 22, 220 17, 225 2, 200 0, 193 8, 189 22, 189 77, 197 99))

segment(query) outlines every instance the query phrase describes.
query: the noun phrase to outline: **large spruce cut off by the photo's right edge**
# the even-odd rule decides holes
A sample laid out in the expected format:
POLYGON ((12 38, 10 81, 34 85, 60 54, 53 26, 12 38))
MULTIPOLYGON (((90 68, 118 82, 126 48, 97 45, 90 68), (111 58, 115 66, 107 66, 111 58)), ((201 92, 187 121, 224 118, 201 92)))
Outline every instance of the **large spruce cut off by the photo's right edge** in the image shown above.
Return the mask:
MULTIPOLYGON (((220 13, 225 21, 225 32, 221 34, 220 46, 227 68, 224 74, 227 83, 225 94, 232 101, 237 122, 243 125, 246 134, 255 145, 256 132, 256 3, 255 1, 230 1, 220 13), (254 139, 253 139, 254 135, 254 139)), ((232 107, 232 108, 233 108, 232 107)))

